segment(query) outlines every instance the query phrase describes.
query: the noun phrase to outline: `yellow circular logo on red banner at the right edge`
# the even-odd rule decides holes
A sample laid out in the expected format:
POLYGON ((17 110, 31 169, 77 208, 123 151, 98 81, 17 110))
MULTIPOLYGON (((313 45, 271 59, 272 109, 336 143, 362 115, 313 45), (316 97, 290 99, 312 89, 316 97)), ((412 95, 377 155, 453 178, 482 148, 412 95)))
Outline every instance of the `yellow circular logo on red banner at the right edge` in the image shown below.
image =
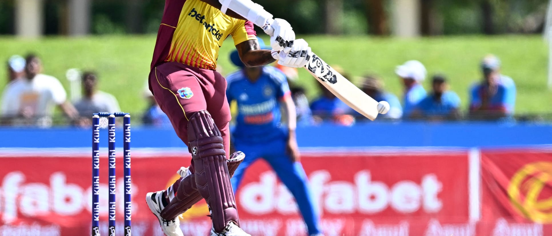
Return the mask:
POLYGON ((514 208, 538 223, 552 223, 552 162, 533 162, 520 168, 508 186, 514 208))

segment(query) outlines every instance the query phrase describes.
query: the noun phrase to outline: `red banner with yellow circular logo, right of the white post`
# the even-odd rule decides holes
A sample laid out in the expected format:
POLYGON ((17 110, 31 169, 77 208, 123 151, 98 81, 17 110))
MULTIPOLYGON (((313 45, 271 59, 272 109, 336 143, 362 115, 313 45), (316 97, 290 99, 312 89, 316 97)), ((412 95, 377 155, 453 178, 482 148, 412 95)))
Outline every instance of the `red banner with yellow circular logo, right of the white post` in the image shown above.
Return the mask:
POLYGON ((481 235, 552 235, 552 152, 481 152, 481 235))

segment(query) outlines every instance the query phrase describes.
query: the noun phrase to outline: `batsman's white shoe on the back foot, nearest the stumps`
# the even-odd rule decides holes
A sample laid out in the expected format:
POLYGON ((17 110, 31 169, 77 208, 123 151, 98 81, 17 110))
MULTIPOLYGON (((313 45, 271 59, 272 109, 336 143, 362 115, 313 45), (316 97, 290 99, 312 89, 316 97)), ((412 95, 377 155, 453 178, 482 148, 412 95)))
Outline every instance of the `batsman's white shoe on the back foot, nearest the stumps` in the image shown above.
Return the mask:
POLYGON ((163 197, 163 191, 157 191, 155 193, 146 194, 147 206, 150 207, 151 213, 157 217, 159 224, 163 233, 167 236, 184 236, 182 230, 180 229, 180 220, 178 217, 174 218, 172 221, 166 221, 161 217, 161 211, 163 208, 163 203, 161 197, 163 197))

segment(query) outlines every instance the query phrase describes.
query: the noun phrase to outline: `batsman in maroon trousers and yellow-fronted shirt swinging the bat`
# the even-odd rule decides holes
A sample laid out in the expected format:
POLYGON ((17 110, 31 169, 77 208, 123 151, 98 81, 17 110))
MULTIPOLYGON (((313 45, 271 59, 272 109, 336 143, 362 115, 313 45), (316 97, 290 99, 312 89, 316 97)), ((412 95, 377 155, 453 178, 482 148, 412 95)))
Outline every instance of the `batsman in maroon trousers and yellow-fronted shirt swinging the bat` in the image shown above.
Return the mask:
POLYGON ((287 21, 272 20, 272 15, 250 0, 165 0, 148 83, 192 153, 190 167, 179 172, 183 178, 146 196, 148 207, 169 236, 183 235, 178 216, 202 198, 213 221, 210 235, 249 235, 240 228, 230 183, 243 153, 229 155, 226 80, 215 71, 219 48, 229 36, 241 61, 250 67, 274 62, 272 53, 278 55, 280 65, 303 67, 311 52, 305 40, 295 39, 287 21), (266 30, 273 35, 272 50, 261 50, 253 23, 241 15, 266 21, 270 26, 266 30))

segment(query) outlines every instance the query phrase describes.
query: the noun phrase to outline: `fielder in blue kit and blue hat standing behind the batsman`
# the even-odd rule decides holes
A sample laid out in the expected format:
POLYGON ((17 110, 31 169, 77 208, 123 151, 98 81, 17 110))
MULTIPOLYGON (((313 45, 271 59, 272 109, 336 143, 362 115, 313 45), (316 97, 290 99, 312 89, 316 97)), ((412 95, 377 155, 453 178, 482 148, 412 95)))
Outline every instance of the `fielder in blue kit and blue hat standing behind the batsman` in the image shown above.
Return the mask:
MULTIPOLYGON (((260 39, 259 45, 263 45, 260 39)), ((238 108, 232 144, 246 154, 231 179, 232 189, 238 189, 247 167, 263 158, 295 197, 309 235, 321 235, 319 213, 299 162, 295 105, 285 75, 274 67, 243 67, 237 52, 231 59, 242 68, 226 76, 226 96, 229 102, 236 101, 238 108), (286 111, 287 127, 280 123, 280 105, 286 111)))

